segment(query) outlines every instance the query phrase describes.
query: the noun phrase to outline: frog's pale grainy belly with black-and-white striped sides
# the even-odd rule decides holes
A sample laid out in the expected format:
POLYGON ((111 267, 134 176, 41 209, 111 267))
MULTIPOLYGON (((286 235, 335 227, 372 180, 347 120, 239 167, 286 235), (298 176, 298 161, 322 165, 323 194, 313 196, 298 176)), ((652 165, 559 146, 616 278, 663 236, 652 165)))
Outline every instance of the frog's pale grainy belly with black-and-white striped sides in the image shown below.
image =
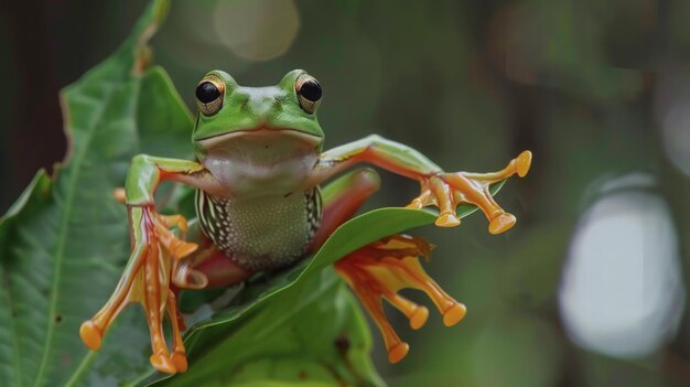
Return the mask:
POLYGON ((204 234, 235 264, 271 270, 304 255, 321 222, 321 194, 227 200, 197 191, 196 213, 204 234))

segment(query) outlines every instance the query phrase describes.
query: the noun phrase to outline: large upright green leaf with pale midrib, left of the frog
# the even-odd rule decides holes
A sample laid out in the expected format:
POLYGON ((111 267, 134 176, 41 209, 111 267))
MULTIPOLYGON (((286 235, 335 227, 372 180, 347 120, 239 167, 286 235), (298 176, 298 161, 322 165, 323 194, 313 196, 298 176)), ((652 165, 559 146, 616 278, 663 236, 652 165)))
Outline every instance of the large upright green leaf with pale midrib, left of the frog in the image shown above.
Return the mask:
POLYGON ((165 73, 148 67, 145 44, 166 9, 152 2, 118 51, 62 93, 65 164, 52 178, 39 172, 0 219, 3 386, 115 386, 148 367, 147 333, 131 329, 137 314, 118 321, 100 353, 86 350, 78 327, 127 259, 126 212, 111 192, 130 159, 162 148, 187 153, 191 116, 165 73))

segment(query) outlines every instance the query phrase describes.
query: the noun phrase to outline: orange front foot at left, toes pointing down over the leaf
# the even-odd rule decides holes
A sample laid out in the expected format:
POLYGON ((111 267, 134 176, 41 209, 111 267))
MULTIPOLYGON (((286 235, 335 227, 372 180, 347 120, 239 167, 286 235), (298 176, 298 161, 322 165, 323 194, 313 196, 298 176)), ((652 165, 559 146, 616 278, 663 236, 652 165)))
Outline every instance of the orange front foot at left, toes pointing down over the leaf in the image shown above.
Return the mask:
POLYGON ((144 309, 151 332, 151 365, 166 374, 184 372, 186 358, 180 333, 181 316, 177 313, 175 294, 170 289, 170 279, 179 261, 194 252, 197 245, 183 240, 187 224, 180 215, 160 215, 152 206, 131 206, 128 211, 133 235, 130 259, 108 302, 93 319, 82 324, 82 341, 87 347, 98 350, 103 336, 119 312, 128 303, 139 302, 144 309), (176 227, 181 237, 175 236, 170 227, 176 227), (165 311, 173 331, 172 355, 162 327, 165 311))

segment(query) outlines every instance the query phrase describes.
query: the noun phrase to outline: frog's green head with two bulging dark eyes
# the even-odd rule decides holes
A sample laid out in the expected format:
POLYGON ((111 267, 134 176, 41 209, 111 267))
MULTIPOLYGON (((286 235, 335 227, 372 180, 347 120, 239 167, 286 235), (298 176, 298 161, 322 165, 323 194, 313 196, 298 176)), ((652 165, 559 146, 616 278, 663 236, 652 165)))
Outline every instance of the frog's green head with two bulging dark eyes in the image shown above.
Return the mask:
POLYGON ((196 155, 204 160, 209 153, 236 148, 237 140, 259 138, 287 152, 293 147, 319 152, 323 144, 316 119, 320 101, 321 85, 302 69, 270 87, 239 86, 227 73, 213 71, 196 87, 198 114, 192 135, 196 155))

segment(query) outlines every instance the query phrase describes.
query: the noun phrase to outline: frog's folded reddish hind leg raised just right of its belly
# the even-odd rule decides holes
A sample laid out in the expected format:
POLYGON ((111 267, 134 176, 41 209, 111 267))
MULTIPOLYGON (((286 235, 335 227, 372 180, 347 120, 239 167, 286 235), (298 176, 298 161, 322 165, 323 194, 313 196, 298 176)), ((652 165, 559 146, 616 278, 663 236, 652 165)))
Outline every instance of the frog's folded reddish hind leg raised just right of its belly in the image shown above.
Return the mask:
POLYGON ((354 170, 323 189, 323 215, 310 251, 316 251, 333 232, 355 215, 380 187, 378 173, 370 168, 354 170))

